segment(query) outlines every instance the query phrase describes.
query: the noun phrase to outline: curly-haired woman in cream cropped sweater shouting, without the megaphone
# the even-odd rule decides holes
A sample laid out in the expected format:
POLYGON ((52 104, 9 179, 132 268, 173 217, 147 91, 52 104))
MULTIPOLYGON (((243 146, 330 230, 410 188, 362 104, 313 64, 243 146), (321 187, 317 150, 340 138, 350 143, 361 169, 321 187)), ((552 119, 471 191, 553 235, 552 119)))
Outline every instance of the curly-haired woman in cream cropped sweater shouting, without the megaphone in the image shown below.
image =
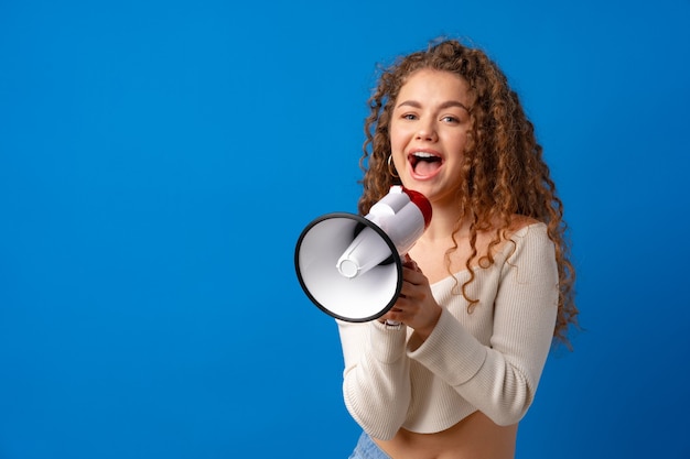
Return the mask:
POLYGON ((511 458, 552 340, 568 345, 578 315, 533 127, 498 67, 456 41, 385 69, 369 106, 359 212, 402 184, 433 217, 395 306, 338 321, 345 404, 364 429, 351 458, 511 458))

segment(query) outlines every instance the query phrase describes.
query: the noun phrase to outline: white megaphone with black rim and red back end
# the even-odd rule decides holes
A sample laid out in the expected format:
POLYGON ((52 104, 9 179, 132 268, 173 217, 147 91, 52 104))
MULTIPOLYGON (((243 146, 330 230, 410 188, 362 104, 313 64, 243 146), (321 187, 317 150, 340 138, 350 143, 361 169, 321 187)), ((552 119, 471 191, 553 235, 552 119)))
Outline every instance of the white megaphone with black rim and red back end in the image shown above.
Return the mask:
POLYGON ((326 214, 309 223, 294 264, 302 289, 324 313, 345 321, 379 318, 402 288, 402 259, 431 221, 420 193, 392 186, 369 214, 326 214))

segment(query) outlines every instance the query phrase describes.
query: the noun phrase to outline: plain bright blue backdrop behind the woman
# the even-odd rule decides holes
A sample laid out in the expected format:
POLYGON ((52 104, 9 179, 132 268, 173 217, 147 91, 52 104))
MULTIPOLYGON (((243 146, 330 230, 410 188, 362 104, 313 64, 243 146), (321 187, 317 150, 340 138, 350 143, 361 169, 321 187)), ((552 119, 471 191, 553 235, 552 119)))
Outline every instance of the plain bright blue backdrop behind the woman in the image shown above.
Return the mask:
POLYGON ((689 457, 690 2, 519 3, 2 0, 0 457, 347 457, 294 244, 356 210, 376 63, 441 34, 506 72, 572 228, 585 330, 518 458, 689 457))

